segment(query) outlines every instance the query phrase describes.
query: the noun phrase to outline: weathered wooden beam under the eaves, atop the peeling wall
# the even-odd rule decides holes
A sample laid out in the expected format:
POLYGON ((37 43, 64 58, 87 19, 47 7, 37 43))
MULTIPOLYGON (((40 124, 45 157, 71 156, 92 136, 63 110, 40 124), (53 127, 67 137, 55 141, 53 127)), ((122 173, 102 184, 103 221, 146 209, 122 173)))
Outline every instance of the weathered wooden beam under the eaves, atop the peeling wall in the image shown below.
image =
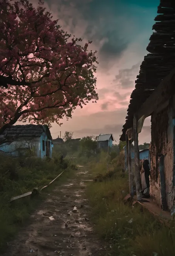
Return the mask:
POLYGON ((154 92, 143 103, 137 113, 138 119, 145 115, 150 116, 157 107, 166 102, 175 94, 175 69, 157 86, 154 92))

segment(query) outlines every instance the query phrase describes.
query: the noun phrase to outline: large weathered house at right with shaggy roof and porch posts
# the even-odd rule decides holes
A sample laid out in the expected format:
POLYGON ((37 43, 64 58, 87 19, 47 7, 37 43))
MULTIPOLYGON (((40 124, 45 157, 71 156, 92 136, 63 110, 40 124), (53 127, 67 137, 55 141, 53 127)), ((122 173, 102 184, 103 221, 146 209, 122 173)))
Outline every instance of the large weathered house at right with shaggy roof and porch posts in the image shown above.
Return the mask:
POLYGON ((150 196, 163 210, 175 212, 175 6, 160 1, 147 51, 131 94, 121 141, 127 143, 130 194, 133 196, 131 145, 134 141, 135 186, 142 201, 138 133, 151 116, 150 196))

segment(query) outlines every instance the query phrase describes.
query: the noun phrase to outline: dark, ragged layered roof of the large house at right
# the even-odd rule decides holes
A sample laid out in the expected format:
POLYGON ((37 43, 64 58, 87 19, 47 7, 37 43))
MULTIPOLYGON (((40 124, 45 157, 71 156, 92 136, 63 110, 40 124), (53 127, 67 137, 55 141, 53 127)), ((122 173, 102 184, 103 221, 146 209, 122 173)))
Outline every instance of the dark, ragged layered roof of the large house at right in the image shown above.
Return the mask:
POLYGON ((123 126, 121 141, 126 140, 126 131, 133 126, 133 116, 155 88, 175 67, 175 0, 160 0, 155 24, 147 51, 135 81, 123 126))

